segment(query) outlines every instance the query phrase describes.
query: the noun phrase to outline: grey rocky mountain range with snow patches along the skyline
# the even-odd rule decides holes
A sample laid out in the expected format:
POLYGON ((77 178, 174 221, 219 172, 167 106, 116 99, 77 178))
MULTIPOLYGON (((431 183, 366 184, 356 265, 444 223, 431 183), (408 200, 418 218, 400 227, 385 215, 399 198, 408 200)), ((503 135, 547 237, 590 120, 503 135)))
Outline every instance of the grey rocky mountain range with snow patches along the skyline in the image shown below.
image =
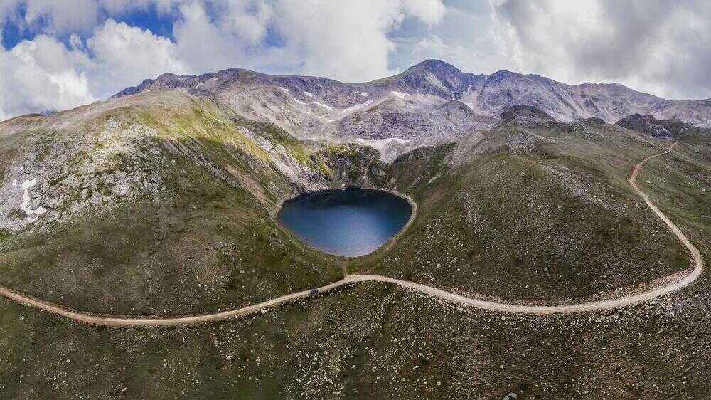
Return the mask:
POLYGON ((530 105, 561 122, 597 117, 614 123, 634 113, 711 127, 711 101, 673 101, 623 85, 567 85, 540 75, 498 71, 463 73, 426 60, 403 73, 368 83, 266 75, 232 68, 200 76, 161 75, 114 98, 150 90, 214 95, 253 120, 273 122, 313 140, 424 140, 434 143, 461 132, 492 127, 513 105, 530 105))

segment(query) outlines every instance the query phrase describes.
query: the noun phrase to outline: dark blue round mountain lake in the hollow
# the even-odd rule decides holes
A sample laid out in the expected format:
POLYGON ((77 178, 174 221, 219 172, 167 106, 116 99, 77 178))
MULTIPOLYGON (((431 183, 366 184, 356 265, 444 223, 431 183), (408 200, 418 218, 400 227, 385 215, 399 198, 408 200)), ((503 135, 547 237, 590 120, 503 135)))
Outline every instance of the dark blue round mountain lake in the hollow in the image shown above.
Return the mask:
POLYGON ((336 256, 363 256, 395 236, 412 206, 387 191, 315 191, 284 203, 277 221, 302 241, 336 256))

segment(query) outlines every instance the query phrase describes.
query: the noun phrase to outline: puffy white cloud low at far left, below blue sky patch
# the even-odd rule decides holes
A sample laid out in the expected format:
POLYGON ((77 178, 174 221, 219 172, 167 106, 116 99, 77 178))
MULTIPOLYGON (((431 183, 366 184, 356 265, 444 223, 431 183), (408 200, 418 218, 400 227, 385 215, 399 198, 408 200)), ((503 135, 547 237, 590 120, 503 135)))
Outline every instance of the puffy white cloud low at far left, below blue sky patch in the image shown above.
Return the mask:
POLYGON ((43 110, 65 110, 164 72, 188 73, 175 43, 107 19, 82 46, 38 35, 0 51, 0 120, 43 110), (91 56, 90 56, 91 54, 91 56))

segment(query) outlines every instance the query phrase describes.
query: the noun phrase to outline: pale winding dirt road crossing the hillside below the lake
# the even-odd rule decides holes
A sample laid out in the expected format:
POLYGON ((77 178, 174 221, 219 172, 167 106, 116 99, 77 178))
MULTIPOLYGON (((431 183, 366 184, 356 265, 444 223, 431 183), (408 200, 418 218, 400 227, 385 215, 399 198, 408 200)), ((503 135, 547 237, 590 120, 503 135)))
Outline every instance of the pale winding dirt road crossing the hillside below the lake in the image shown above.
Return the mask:
POLYGON ((662 286, 661 288, 656 288, 649 290, 648 292, 638 293, 636 295, 624 296, 622 298, 616 298, 611 300, 600 300, 594 302, 583 302, 575 305, 515 305, 506 304, 501 302, 489 302, 483 300, 475 300, 472 298, 467 298, 462 295, 456 295, 446 290, 441 290, 437 288, 432 288, 427 285, 422 285, 419 283, 409 282, 407 280, 400 280, 395 278, 388 278, 383 275, 348 275, 342 280, 330 283, 325 286, 321 286, 318 289, 304 290, 296 293, 289 293, 288 295, 283 295, 279 298, 268 300, 265 302, 260 302, 259 304, 250 305, 247 307, 242 307, 237 310, 228 310, 224 312, 215 312, 212 314, 205 315, 188 315, 182 317, 164 317, 164 318, 143 318, 143 317, 107 317, 101 315, 92 315, 85 312, 78 312, 75 310, 70 310, 62 305, 55 304, 53 302, 48 302, 45 300, 38 300, 32 298, 28 295, 23 295, 15 290, 0 286, 0 295, 4 295, 10 300, 14 300, 20 304, 27 305, 29 307, 35 307, 40 310, 50 312, 56 315, 61 315, 67 317, 70 320, 75 320, 77 322, 85 322, 92 325, 105 325, 109 327, 135 327, 135 326, 149 326, 149 327, 165 327, 165 326, 175 326, 175 325, 190 325, 199 324, 204 322, 213 322, 218 320, 227 320, 229 318, 242 317, 244 315, 249 315, 255 312, 260 312, 271 307, 277 307, 284 302, 289 302, 292 300, 297 300, 301 298, 308 298, 310 296, 316 295, 317 293, 324 293, 328 290, 338 288, 343 285, 348 285, 358 282, 383 282, 392 283, 395 285, 400 285, 402 288, 408 288, 411 290, 417 290, 418 292, 431 295, 433 297, 441 298, 449 302, 455 302, 460 305, 479 307, 486 310, 495 310, 503 312, 519 312, 527 314, 556 314, 556 313, 569 313, 569 312, 584 312, 584 311, 598 311, 607 310, 614 307, 622 307, 625 305, 636 304, 638 302, 643 302, 645 300, 651 300, 653 298, 658 298, 659 296, 666 295, 673 292, 674 290, 683 288, 684 286, 692 283, 696 278, 699 277, 703 270, 703 258, 698 249, 689 241, 689 239, 680 231, 680 229, 665 216, 648 198, 643 191, 641 191, 637 184, 637 175, 641 171, 642 167, 646 162, 648 162, 653 157, 659 157, 664 154, 671 152, 672 147, 677 144, 674 142, 671 144, 665 152, 659 154, 653 154, 642 159, 638 162, 634 168, 630 171, 628 182, 632 189, 637 192, 639 196, 644 200, 647 206, 658 216, 664 223, 670 228, 674 235, 679 238, 679 241, 688 248, 695 263, 695 268, 681 280, 678 280, 669 285, 662 286))

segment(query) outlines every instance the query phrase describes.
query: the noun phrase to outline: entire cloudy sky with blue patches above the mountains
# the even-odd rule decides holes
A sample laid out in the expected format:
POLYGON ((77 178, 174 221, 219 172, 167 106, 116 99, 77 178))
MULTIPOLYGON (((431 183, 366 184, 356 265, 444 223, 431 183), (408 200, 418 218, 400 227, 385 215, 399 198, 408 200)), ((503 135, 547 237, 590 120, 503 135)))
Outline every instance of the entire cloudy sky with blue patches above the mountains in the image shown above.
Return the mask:
POLYGON ((709 43, 706 0, 0 0, 0 120, 164 72, 361 82, 427 58, 711 98, 709 43))

